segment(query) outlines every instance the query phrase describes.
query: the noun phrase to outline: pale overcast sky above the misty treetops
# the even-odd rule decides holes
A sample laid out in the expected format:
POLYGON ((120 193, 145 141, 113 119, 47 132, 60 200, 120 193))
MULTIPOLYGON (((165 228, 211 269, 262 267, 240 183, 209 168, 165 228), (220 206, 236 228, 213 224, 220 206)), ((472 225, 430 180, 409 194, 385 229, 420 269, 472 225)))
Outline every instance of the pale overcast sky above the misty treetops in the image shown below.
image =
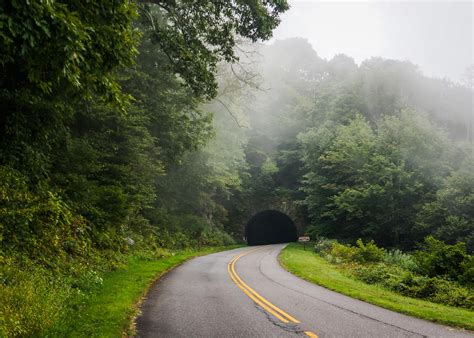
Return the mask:
POLYGON ((344 53, 410 60, 435 77, 461 81, 473 60, 472 1, 290 0, 274 39, 303 37, 323 58, 344 53))

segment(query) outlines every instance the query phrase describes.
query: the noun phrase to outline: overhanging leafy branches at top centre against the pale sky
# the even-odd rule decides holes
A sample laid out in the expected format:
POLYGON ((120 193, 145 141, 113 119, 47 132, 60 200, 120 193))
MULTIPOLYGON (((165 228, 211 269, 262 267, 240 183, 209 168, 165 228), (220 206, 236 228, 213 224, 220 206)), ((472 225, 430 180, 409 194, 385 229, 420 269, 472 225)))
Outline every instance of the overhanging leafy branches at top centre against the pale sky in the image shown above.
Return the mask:
POLYGON ((267 40, 289 6, 285 0, 142 0, 155 42, 172 69, 193 91, 206 98, 217 94, 219 61, 237 61, 236 37, 267 40))

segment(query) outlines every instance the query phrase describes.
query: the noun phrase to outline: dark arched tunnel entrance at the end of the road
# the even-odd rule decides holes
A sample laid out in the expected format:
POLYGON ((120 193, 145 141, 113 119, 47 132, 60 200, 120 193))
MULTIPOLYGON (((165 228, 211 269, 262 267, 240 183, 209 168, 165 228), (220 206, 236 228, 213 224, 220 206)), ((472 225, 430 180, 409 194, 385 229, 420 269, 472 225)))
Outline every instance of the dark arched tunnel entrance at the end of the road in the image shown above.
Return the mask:
POLYGON ((249 245, 295 242, 296 227, 290 217, 276 210, 265 210, 254 215, 245 226, 249 245))

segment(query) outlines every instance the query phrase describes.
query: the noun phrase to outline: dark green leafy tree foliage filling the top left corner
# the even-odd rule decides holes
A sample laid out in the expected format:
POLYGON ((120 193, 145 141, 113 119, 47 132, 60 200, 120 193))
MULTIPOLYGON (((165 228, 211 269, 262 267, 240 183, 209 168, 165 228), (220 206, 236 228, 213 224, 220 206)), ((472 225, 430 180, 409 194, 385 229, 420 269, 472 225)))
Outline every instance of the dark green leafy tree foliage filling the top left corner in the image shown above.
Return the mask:
POLYGON ((136 56, 129 1, 10 1, 0 6, 0 163, 38 179, 74 102, 126 103, 116 70, 136 56))

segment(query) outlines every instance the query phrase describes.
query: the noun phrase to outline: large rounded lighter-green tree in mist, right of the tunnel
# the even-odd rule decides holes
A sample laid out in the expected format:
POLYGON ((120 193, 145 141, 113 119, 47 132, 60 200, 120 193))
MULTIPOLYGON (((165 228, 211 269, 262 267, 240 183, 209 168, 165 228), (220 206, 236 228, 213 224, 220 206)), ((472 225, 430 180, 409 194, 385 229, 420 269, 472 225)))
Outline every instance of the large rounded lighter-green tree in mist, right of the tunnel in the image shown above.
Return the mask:
MULTIPOLYGON (((361 116, 305 149, 304 204, 326 235, 412 246, 418 211, 447 174, 449 142, 419 113, 386 117, 377 131, 361 116), (320 145, 324 148, 318 150, 320 145)), ((319 134, 324 135, 324 134, 319 134)))

